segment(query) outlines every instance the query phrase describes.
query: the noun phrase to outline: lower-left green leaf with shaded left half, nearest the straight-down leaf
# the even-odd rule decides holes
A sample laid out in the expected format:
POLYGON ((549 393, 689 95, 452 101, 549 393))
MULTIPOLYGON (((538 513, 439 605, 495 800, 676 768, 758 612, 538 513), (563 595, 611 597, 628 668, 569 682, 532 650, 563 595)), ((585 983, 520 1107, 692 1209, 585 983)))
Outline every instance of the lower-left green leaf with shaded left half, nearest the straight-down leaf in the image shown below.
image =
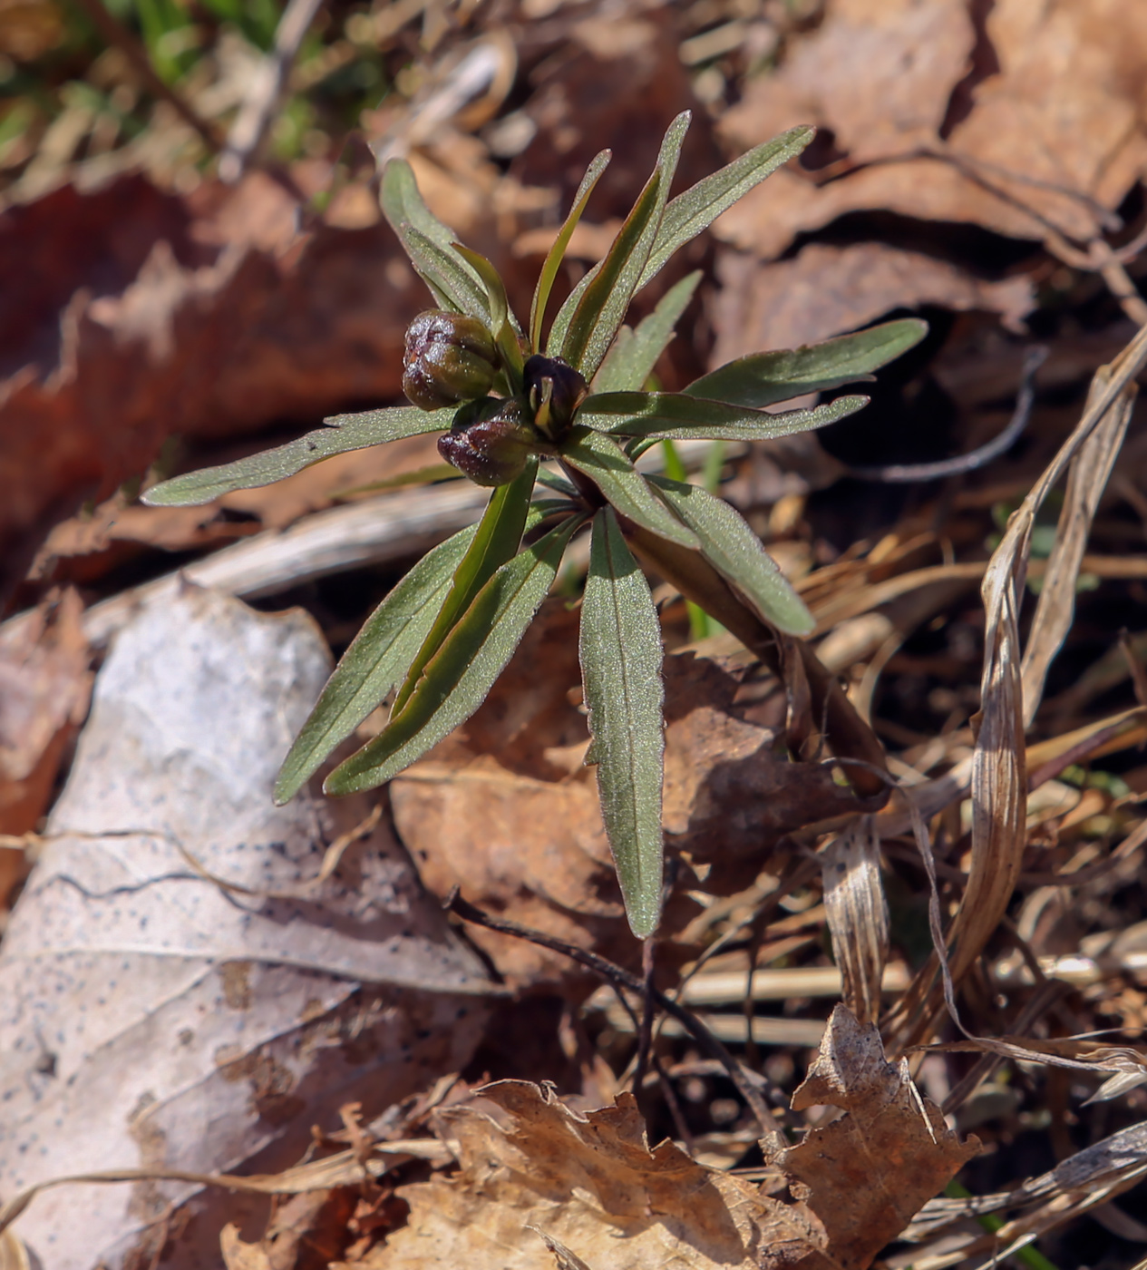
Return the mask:
POLYGON ((486 700, 557 575, 574 516, 497 570, 430 659, 400 715, 326 779, 327 794, 370 790, 421 758, 486 700))

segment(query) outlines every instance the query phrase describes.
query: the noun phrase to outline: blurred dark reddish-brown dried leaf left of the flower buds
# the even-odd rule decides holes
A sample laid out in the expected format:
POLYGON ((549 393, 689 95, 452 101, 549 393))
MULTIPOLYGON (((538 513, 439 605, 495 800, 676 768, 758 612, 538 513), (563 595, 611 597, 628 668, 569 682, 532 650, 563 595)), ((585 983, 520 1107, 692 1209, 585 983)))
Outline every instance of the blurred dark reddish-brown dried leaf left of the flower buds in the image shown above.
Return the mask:
POLYGON ((293 202, 260 174, 189 202, 137 177, 58 190, 0 216, 0 269, 9 295, 36 297, 30 321, 0 305, 13 334, 0 592, 56 521, 142 475, 169 436, 249 434, 396 396, 403 329, 424 306, 388 229, 299 234, 293 202))

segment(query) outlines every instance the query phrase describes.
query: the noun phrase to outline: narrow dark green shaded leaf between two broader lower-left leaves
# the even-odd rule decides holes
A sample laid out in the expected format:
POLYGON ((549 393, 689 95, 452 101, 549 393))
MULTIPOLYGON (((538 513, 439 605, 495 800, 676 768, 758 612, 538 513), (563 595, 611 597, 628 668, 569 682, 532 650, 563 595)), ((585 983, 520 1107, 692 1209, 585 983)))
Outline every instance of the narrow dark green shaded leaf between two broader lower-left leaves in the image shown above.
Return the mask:
POLYGON ((499 485, 490 495, 477 533, 458 564, 450 592, 439 610, 434 625, 426 632, 423 646, 411 659, 402 687, 395 697, 391 714, 397 716, 411 695, 431 657, 442 648, 458 618, 469 608, 475 596, 521 545, 529 499, 538 471, 538 460, 527 461, 521 474, 506 485, 499 485))

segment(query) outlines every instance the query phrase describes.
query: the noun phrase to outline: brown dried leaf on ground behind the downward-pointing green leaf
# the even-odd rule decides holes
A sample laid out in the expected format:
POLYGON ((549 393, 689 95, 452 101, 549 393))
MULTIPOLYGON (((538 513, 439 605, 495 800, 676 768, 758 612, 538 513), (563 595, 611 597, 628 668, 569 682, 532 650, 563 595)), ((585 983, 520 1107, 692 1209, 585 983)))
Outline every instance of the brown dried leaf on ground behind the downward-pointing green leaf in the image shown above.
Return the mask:
MULTIPOLYGON (((547 603, 482 707, 391 781, 400 837, 431 892, 632 961, 601 826, 580 701, 579 613, 547 603)), ((744 671, 671 654, 664 663, 666 846, 711 865, 704 888, 747 885, 793 829, 859 804, 827 767, 790 762, 778 726, 737 704, 744 671)), ((693 916, 676 899, 665 931, 693 916)), ((471 937, 515 987, 582 982, 566 958, 485 930, 471 937), (571 978, 572 977, 572 978, 571 978)))

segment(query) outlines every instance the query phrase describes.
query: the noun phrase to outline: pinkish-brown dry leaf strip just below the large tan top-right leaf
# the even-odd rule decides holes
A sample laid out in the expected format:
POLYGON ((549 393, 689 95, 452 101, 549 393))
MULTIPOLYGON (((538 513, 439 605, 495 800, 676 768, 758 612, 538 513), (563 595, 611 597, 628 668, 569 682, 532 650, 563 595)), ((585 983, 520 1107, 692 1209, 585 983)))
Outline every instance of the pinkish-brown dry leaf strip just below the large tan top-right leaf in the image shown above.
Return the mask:
POLYGON ((944 260, 881 243, 812 243, 777 263, 723 251, 717 278, 714 366, 761 348, 829 339, 900 307, 981 309, 1015 328, 1035 304, 1028 278, 983 282, 944 260))

